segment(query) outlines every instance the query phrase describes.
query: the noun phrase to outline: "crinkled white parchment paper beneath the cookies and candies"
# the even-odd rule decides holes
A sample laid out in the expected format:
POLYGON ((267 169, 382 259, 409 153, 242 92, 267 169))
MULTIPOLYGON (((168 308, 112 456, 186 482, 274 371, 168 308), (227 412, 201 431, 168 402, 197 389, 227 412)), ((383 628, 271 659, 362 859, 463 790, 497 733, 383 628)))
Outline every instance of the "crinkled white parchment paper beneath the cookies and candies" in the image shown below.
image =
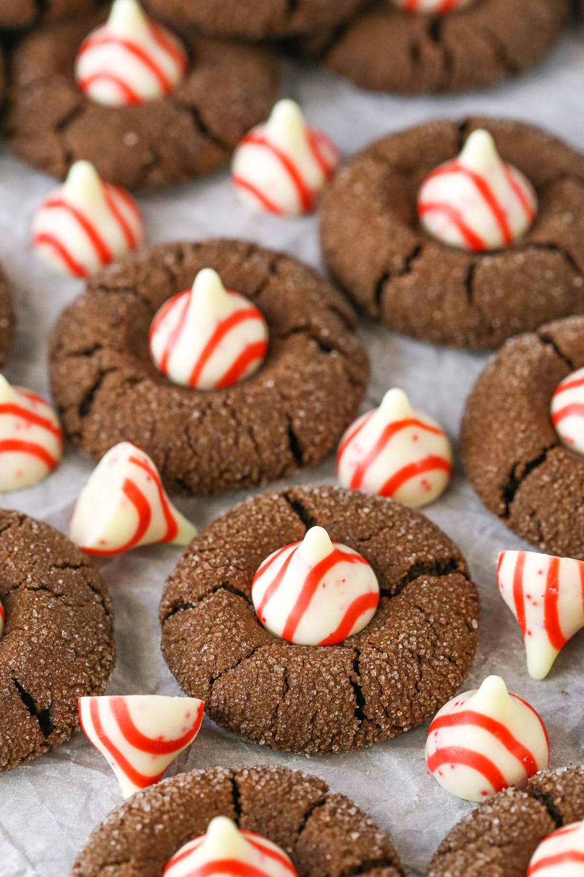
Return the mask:
MULTIPOLYGON (((389 51, 389 46, 388 46, 389 51)), ((303 105, 348 156, 369 140, 436 116, 481 112, 545 125, 584 149, 584 31, 566 35, 537 71, 478 95, 411 98, 372 95, 318 72, 286 64, 283 91, 303 105)), ((7 367, 10 381, 47 394, 46 348, 60 310, 81 284, 49 274, 32 258, 32 212, 54 185, 0 150, 0 260, 13 284, 18 339, 7 367)), ((321 266, 313 217, 288 220, 256 217, 236 202, 226 172, 179 189, 139 199, 151 241, 234 236, 290 251, 321 266)), ((458 452, 461 410, 486 357, 419 344, 362 323, 372 378, 365 407, 398 385, 415 405, 440 420, 458 452)), ((485 430, 489 424, 485 424, 485 430)), ((16 508, 67 531, 75 497, 92 464, 73 446, 44 483, 1 497, 16 508)), ((334 462, 286 483, 334 482, 334 462)), ((284 485, 281 485, 284 486, 284 485)), ((180 509, 202 527, 243 495, 180 501, 180 509)), ((452 487, 427 510, 461 546, 481 588, 480 646, 465 688, 489 673, 502 674, 545 719, 552 741, 552 765, 584 761, 584 634, 566 645, 547 680, 531 681, 516 622, 496 593, 496 556, 519 547, 503 524, 482 509, 457 466, 452 487)), ((100 563, 116 609, 117 666, 110 694, 179 694, 159 651, 158 600, 162 584, 179 559, 179 549, 155 546, 100 563)), ((201 733, 169 774, 215 765, 281 764, 318 774, 335 791, 352 797, 391 837, 408 872, 425 873, 441 838, 471 805, 461 802, 427 774, 427 724, 362 752, 306 759, 243 742, 205 718, 201 733)), ((81 732, 31 764, 0 776, 0 877, 66 877, 89 831, 121 802, 114 774, 81 732)))

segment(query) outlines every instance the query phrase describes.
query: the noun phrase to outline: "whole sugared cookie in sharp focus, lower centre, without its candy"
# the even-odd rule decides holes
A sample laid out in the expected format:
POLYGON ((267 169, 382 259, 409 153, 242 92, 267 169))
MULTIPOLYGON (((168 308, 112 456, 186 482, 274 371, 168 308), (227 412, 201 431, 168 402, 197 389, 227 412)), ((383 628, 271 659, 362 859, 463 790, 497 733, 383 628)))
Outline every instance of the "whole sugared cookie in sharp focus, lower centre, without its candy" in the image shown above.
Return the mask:
POLYGON ((442 531, 390 499, 340 488, 237 505, 193 539, 160 604, 179 685, 217 724, 290 752, 355 749, 433 716, 468 674, 478 617, 465 560, 442 531), (379 581, 373 620, 340 645, 291 645, 251 605, 260 563, 313 524, 361 553, 379 581))

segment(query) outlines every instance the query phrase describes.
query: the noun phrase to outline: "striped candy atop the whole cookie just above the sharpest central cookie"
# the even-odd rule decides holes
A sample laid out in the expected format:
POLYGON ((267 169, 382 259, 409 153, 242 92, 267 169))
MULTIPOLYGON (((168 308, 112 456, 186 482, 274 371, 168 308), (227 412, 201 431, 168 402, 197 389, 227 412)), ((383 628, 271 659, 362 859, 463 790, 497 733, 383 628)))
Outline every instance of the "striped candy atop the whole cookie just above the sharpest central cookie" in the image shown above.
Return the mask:
POLYGON ((185 387, 230 387, 256 372, 267 351, 261 311, 225 289, 211 268, 200 271, 193 289, 172 296, 152 320, 151 358, 162 374, 185 387))

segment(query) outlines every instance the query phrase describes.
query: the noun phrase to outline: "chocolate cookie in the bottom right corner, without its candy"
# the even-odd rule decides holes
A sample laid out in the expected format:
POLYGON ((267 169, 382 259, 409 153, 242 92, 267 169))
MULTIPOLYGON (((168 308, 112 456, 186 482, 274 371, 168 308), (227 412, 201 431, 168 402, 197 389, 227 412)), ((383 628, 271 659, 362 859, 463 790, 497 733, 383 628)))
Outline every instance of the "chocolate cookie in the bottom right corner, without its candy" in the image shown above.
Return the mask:
POLYGON ((505 789, 447 834, 428 877, 525 877, 538 844, 562 825, 584 819, 584 767, 531 777, 526 792, 505 789))

